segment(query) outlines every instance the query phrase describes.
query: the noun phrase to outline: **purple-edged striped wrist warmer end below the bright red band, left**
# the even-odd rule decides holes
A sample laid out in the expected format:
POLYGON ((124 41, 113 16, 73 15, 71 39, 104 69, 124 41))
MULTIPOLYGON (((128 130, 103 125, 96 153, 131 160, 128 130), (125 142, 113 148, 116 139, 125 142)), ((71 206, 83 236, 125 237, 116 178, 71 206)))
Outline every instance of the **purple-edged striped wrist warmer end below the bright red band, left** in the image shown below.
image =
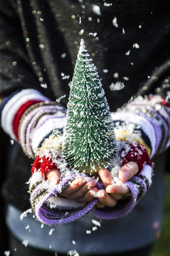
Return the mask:
MULTIPOLYGON (((52 182, 45 181, 41 177, 41 173, 35 172, 30 179, 30 202, 36 218, 47 225, 63 224, 79 219, 88 213, 98 201, 94 198, 90 203, 84 204, 58 196, 58 193, 61 193, 75 178, 89 179, 83 173, 70 172, 58 185, 52 185, 52 182)), ((96 187, 103 188, 99 183, 96 187)))

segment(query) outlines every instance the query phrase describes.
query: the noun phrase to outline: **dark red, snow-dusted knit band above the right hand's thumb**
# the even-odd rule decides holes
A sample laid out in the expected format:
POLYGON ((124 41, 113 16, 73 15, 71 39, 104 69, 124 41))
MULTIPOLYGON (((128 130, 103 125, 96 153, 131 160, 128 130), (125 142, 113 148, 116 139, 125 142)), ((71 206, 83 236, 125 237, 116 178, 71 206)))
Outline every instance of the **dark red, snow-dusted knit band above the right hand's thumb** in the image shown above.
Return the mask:
MULTIPOLYGON (((128 153, 125 155, 125 157, 122 157, 123 165, 130 161, 136 162, 139 166, 139 172, 137 173, 137 175, 141 173, 145 164, 152 166, 152 161, 145 147, 143 147, 142 145, 133 146, 132 144, 129 144, 129 147, 130 150, 128 151, 128 153), (139 154, 139 150, 141 152, 141 155, 139 154)), ((122 151, 125 151, 125 148, 121 149, 121 153, 122 151)))

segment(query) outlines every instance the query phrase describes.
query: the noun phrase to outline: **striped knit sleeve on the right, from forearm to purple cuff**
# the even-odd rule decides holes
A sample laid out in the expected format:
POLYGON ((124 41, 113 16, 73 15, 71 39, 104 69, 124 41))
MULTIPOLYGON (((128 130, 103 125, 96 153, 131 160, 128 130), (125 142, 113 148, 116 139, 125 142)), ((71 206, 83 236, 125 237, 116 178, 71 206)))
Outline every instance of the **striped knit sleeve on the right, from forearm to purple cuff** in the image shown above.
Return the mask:
POLYGON ((111 170, 113 183, 129 187, 131 196, 118 200, 113 208, 94 208, 98 218, 113 219, 128 214, 151 185, 151 158, 169 147, 169 107, 159 95, 138 97, 112 113, 117 142, 117 156, 111 170), (139 172, 126 182, 118 179, 118 171, 129 161, 138 163, 139 172))

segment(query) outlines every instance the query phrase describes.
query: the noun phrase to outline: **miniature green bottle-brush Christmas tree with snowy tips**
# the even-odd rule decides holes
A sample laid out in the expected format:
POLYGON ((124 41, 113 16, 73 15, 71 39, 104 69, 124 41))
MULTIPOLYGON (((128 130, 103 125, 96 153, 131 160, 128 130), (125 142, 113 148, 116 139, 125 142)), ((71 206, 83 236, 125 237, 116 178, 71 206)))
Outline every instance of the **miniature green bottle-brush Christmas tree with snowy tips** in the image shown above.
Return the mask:
POLYGON ((81 39, 67 108, 63 151, 67 163, 94 174, 114 161, 116 142, 105 92, 81 39))

